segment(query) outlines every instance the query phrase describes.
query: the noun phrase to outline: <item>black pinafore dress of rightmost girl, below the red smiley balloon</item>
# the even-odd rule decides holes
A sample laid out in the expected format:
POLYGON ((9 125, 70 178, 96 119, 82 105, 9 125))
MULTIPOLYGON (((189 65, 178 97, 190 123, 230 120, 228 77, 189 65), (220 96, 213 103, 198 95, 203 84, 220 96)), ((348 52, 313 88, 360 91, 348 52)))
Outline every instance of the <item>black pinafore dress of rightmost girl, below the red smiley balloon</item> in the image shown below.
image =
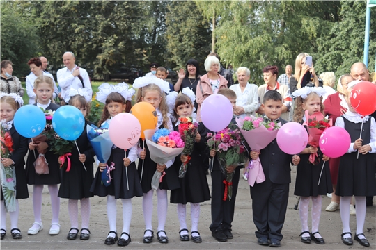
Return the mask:
MULTIPOLYGON (((354 123, 343 117, 345 122, 345 130, 350 134, 351 142, 355 142, 359 138, 361 132, 361 123, 354 123)), ((363 123, 363 131, 361 138, 362 144, 370 143, 370 125, 371 118, 363 123)), ((345 153, 340 157, 340 167, 338 171, 338 181, 336 195, 345 196, 367 196, 376 195, 376 169, 374 162, 374 153, 363 155, 357 151, 345 153)))

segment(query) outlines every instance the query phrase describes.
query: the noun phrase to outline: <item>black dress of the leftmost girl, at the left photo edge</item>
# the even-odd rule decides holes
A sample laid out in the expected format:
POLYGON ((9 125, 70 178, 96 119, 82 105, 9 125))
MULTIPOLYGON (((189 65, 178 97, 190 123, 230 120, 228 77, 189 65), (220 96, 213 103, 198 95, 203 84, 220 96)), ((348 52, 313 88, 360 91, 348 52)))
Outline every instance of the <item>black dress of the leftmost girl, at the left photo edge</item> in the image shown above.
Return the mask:
MULTIPOLYGON (((16 175, 16 199, 26 199, 29 198, 29 190, 27 189, 26 183, 26 172, 25 172, 25 160, 28 143, 27 138, 24 138, 22 135, 15 130, 14 124, 10 128, 10 136, 13 140, 13 154, 10 158, 15 162, 15 175, 16 175)), ((3 201, 3 188, 1 187, 1 201, 3 201)))

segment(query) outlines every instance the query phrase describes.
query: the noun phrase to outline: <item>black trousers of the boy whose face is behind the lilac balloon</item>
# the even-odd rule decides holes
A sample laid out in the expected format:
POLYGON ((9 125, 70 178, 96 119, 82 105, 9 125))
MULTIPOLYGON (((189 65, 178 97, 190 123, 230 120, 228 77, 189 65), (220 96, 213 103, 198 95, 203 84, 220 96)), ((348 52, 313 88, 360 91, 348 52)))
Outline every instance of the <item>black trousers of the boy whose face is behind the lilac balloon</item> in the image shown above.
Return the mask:
POLYGON ((234 219, 235 199, 239 185, 240 168, 237 167, 233 177, 233 197, 231 201, 224 199, 224 180, 226 176, 221 171, 212 172, 212 224, 210 231, 219 231, 231 228, 234 219))

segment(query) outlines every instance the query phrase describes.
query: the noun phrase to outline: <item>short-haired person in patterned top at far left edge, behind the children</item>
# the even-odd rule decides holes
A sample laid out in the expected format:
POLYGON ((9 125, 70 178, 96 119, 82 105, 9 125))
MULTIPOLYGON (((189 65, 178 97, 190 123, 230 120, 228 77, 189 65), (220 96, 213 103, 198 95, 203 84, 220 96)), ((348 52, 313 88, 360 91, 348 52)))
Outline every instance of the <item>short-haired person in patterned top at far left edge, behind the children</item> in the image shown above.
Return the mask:
POLYGON ((17 76, 12 76, 13 63, 10 60, 2 60, 0 63, 1 77, 0 77, 0 92, 7 94, 15 93, 20 97, 24 96, 24 88, 17 76))

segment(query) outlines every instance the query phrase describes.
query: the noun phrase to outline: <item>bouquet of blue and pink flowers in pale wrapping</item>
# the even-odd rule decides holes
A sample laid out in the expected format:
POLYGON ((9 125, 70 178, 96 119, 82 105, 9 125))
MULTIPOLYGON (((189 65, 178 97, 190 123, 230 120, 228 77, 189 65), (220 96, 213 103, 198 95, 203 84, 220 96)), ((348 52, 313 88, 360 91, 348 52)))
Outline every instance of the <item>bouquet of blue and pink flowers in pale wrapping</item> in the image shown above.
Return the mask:
MULTIPOLYGON (((150 158, 159 165, 164 165, 169 160, 174 159, 180 155, 184 149, 184 142, 180 138, 180 134, 177 131, 169 131, 166 128, 148 129, 144 131, 146 144, 150 152, 150 158)), ((152 188, 157 190, 159 183, 162 182, 162 174, 166 172, 155 171, 152 177, 152 188)))

